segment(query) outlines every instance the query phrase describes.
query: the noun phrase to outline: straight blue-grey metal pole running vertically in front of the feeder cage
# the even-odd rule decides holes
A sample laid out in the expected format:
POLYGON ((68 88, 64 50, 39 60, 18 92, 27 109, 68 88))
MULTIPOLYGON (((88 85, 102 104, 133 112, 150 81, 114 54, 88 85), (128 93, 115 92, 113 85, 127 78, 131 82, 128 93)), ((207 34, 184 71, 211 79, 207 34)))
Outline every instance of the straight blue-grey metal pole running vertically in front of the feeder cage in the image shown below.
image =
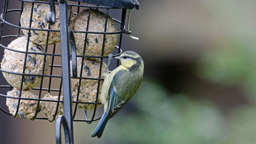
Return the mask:
POLYGON ((67 0, 58 0, 60 9, 60 35, 61 35, 61 64, 63 77, 63 101, 64 115, 67 119, 70 143, 73 144, 73 119, 72 119, 72 103, 71 103, 71 76, 70 76, 70 53, 68 40, 68 5, 67 0))

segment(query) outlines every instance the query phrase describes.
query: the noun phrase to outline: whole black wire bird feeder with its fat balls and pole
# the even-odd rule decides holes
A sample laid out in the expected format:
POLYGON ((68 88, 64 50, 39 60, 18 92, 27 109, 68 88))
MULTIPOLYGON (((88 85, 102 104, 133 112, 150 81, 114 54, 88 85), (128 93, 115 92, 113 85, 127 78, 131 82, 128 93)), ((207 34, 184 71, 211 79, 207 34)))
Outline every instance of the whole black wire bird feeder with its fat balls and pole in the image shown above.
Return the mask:
MULTIPOLYGON (((139 3, 136 0, 17 1, 20 8, 11 9, 8 8, 9 0, 4 0, 0 17, 0 46, 5 53, 0 71, 9 83, 0 84, 0 98, 6 98, 9 111, 3 105, 0 110, 23 119, 56 120, 56 143, 61 143, 61 124, 66 143, 73 143, 73 121, 90 124, 100 119, 95 113, 101 105, 98 98, 103 81, 101 75, 106 68, 104 60, 109 53, 113 53, 113 57, 121 54, 123 34, 138 40, 131 36, 129 24, 131 10, 139 9, 139 3), (117 9, 120 9, 120 20, 109 16, 117 9), (128 20, 125 20, 128 10, 128 20), (84 19, 77 18, 74 22, 81 13, 84 19), (8 19, 13 16, 19 18, 8 19), (117 29, 111 31, 109 27, 117 29), (15 35, 5 32, 10 28, 15 35), (8 34, 3 35, 4 32, 8 34), (3 41, 12 42, 7 46, 3 41), (56 53, 58 45, 60 53, 56 53), (82 48, 78 49, 78 45, 82 48), (91 53, 96 48, 97 53, 91 53), (83 93, 83 89, 89 92, 83 93), (52 93, 56 96, 51 96, 52 93), (81 97, 86 99, 79 99, 81 97), (84 119, 76 119, 78 108, 84 109, 84 119), (90 117, 88 109, 93 111, 90 117), (40 111, 44 111, 45 116, 37 115, 40 111)), ((119 61, 116 67, 118 65, 119 61)))

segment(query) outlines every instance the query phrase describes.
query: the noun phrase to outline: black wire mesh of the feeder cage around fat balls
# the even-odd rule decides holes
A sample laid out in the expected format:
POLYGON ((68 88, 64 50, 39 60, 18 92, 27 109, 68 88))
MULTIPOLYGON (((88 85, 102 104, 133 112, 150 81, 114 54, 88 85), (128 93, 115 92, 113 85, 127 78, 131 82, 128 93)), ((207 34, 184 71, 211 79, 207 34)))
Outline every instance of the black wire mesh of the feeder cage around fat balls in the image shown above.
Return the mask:
MULTIPOLYGON (((24 80, 24 77, 28 77, 28 76, 40 76, 41 77, 41 82, 39 85, 37 85, 36 87, 32 88, 32 90, 36 91, 37 95, 38 95, 38 99, 31 99, 31 98, 21 98, 21 93, 22 91, 20 90, 19 93, 19 97, 12 97, 12 96, 7 96, 7 92, 11 91, 13 89, 13 87, 11 85, 1 85, 0 83, 0 89, 1 89, 1 93, 0 93, 0 97, 6 97, 6 98, 11 98, 11 99, 17 99, 18 103, 17 103, 17 110, 16 113, 13 117, 16 117, 18 114, 18 109, 20 107, 20 101, 21 100, 35 100, 38 101, 37 103, 37 107, 36 107, 36 114, 35 116, 32 118, 33 119, 45 119, 47 120, 47 117, 40 117, 37 116, 37 113, 40 112, 40 102, 42 101, 48 101, 48 102, 56 102, 57 103, 57 108, 55 109, 55 116, 53 117, 53 120, 55 119, 56 115, 57 115, 57 109, 59 107, 59 105, 61 103, 63 103, 63 101, 60 100, 60 96, 62 95, 62 82, 63 82, 63 77, 61 75, 61 68, 62 67, 67 67, 67 65, 61 65, 59 60, 61 59, 61 53, 58 53, 58 49, 60 49, 58 44, 54 44, 54 45, 48 45, 48 37, 50 35, 50 32, 60 32, 59 30, 53 30, 50 28, 50 25, 48 26, 48 29, 35 29, 35 28, 31 28, 31 22, 32 22, 32 14, 30 17, 30 24, 29 24, 29 28, 24 28, 21 27, 20 24, 20 18, 21 18, 21 13, 23 12, 23 9, 25 7, 25 5, 27 5, 28 3, 32 3, 32 7, 31 7, 31 12, 33 12, 33 5, 35 3, 49 3, 48 1, 32 1, 32 0, 19 0, 17 1, 17 3, 19 3, 20 8, 19 9, 11 9, 9 8, 9 1, 8 0, 4 0, 3 2, 3 12, 1 14, 1 19, 0 19, 0 46, 1 46, 1 51, 3 51, 4 49, 8 49, 10 51, 15 51, 17 53, 24 53, 25 54, 25 59, 28 59, 28 55, 29 54, 40 54, 44 56, 44 64, 43 67, 47 67, 48 65, 45 65, 45 57, 48 55, 50 57, 50 61, 49 61, 49 70, 47 74, 44 74, 44 71, 41 74, 35 75, 35 74, 25 74, 24 70, 26 67, 26 63, 24 63, 23 65, 23 73, 15 73, 15 72, 10 72, 10 71, 4 71, 3 69, 0 69, 1 72, 5 72, 5 73, 12 73, 15 75, 21 75, 22 76, 22 80, 24 80), (16 16, 19 15, 19 19, 17 20, 9 20, 7 19, 8 17, 12 17, 12 16, 16 16), (3 35, 4 31, 7 31, 5 29, 12 29, 12 31, 15 29, 16 31, 16 35, 3 35), (17 37, 22 37, 24 35, 22 35, 21 33, 21 29, 27 29, 28 30, 28 36, 33 32, 33 31, 44 31, 47 32, 47 42, 46 45, 44 46, 45 49, 45 53, 36 53, 36 52, 29 52, 28 51, 28 42, 29 42, 29 37, 27 38, 27 49, 26 51, 18 51, 15 49, 11 49, 8 48, 7 45, 3 44, 3 41, 12 41, 15 40, 17 37), (44 97, 45 94, 50 93, 51 95, 53 95, 52 93, 54 93, 56 96, 58 96, 58 100, 45 100, 42 99, 44 97)), ((58 3, 55 3, 56 5, 58 5, 58 3)), ((88 8, 89 9, 89 15, 88 17, 90 17, 90 12, 91 9, 100 9, 101 11, 104 11, 106 13, 106 19, 105 21, 107 21, 107 15, 109 13, 109 11, 112 11, 116 8, 113 7, 107 7, 107 6, 100 6, 100 5, 91 5, 91 4, 86 4, 86 3, 80 3, 80 2, 69 2, 68 6, 71 9, 76 9, 76 12, 73 13, 74 15, 76 15, 77 13, 81 12, 81 9, 85 9, 88 8)), ((61 15, 62 13, 60 13, 61 15)), ((70 15, 72 15, 72 13, 69 13, 69 20, 70 20, 70 15)), ((73 33, 85 33, 85 41, 87 39, 87 34, 88 33, 96 33, 96 34, 102 34, 103 37, 103 47, 102 47, 102 51, 104 51, 104 41, 105 41, 105 36, 106 35, 114 35, 114 34, 118 34, 119 38, 117 41, 117 45, 115 46, 115 50, 113 51, 113 55, 120 55, 121 53, 121 40, 122 40, 122 35, 123 33, 131 33, 131 32, 127 32, 125 30, 124 27, 124 23, 125 23, 125 15, 126 15, 126 9, 123 9, 122 13, 121 13, 121 20, 117 20, 114 19, 118 31, 117 32, 113 32, 113 33, 109 33, 109 32, 89 32, 88 31, 88 24, 87 24, 87 28, 85 31, 73 31, 73 33)), ((89 18, 88 18, 88 23, 89 23, 89 18)), ((105 24, 105 29, 106 29, 107 25, 105 24)), ((72 31, 72 30, 71 30, 72 31)), ((8 33, 8 32, 5 32, 8 33)), ((73 40, 72 34, 70 35, 71 40, 73 40)), ((85 49, 86 49, 86 44, 85 44, 85 49)), ((75 49, 73 43, 71 42, 71 52, 75 49), (73 47, 73 48, 72 48, 73 47)), ((83 52, 85 53, 85 51, 83 52)), ((72 79, 79 79, 79 85, 78 85, 78 92, 77 92, 77 99, 79 97, 79 89, 81 86, 81 80, 83 79, 87 79, 87 80, 94 80, 97 81, 98 86, 96 88, 96 99, 95 102, 87 102, 87 101, 72 101, 73 104, 75 104, 75 106, 73 107, 73 121, 87 121, 87 123, 92 123, 92 121, 98 120, 100 119, 100 117, 96 117, 95 113, 96 113, 96 107, 97 105, 99 105, 100 103, 97 103, 97 99, 99 97, 99 84, 100 81, 103 81, 103 79, 101 79, 100 75, 101 75, 101 71, 104 71, 105 69, 101 69, 101 66, 103 64, 104 59, 107 60, 107 56, 103 56, 103 53, 101 54, 101 56, 87 56, 86 53, 84 55, 74 55, 74 53, 71 53, 71 57, 72 60, 76 60, 76 57, 85 57, 85 58, 89 58, 89 57, 93 57, 93 58, 98 58, 100 59, 100 69, 99 69, 99 76, 94 77, 94 78, 89 78, 89 77, 83 77, 82 76, 82 72, 81 73, 77 73, 77 65, 74 63, 72 63, 72 71, 73 73, 71 73, 71 78, 72 79), (75 58, 75 59, 74 59, 75 58), (77 75, 76 75, 77 74, 77 75), (87 116, 87 111, 85 110, 85 118, 84 119, 76 119, 76 111, 77 111, 77 104, 93 104, 94 105, 94 109, 93 109, 93 114, 92 116, 88 117, 87 116)), ((25 62, 26 60, 24 60, 25 62)), ((118 61, 117 61, 117 64, 118 61)), ((82 62, 82 66, 81 68, 83 68, 83 62, 82 62)), ((44 69, 44 68, 43 68, 44 69)), ((4 78, 1 78, 4 79, 4 78)), ((21 85, 20 87, 23 87, 23 81, 21 81, 21 85)), ((4 105, 0 105, 0 110, 8 115, 12 114, 6 109, 4 108, 6 106, 4 105)), ((52 121, 53 121, 52 120, 52 121)))

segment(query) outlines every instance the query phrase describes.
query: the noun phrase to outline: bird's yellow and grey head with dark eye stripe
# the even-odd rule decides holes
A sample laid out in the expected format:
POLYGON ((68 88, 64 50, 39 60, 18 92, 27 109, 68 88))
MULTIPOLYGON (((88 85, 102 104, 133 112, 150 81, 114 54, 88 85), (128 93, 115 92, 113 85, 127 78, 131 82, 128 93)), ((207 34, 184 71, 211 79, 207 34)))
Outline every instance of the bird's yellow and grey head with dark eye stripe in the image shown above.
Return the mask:
POLYGON ((144 67, 143 60, 140 55, 133 51, 123 52, 120 56, 115 58, 119 59, 122 66, 126 68, 144 67))

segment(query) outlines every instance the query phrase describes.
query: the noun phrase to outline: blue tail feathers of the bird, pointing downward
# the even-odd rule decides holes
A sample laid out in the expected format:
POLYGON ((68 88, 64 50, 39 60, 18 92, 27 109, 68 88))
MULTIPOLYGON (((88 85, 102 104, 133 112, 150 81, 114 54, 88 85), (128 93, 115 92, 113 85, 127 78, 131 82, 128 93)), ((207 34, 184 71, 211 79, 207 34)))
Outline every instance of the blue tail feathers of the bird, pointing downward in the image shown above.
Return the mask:
POLYGON ((100 138, 103 131, 104 131, 104 128, 105 128, 107 122, 108 122, 108 120, 107 120, 107 111, 106 111, 106 112, 103 113, 103 115, 102 115, 97 127, 93 131, 91 137, 97 136, 98 138, 100 138))

